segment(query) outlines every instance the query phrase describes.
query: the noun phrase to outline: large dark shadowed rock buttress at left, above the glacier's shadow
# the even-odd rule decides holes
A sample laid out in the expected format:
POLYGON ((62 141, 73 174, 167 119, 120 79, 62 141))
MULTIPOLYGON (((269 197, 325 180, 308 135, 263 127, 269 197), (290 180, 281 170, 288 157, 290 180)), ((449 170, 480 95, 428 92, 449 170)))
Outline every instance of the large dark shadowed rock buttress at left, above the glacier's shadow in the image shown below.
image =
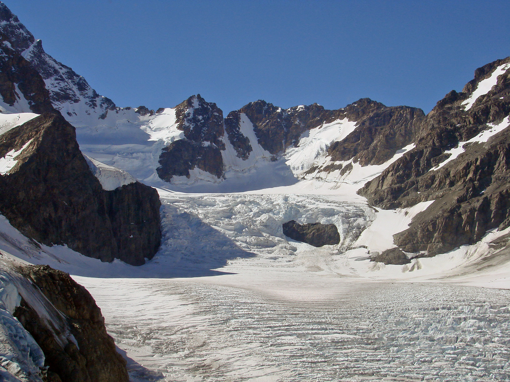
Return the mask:
POLYGON ((161 240, 155 189, 135 182, 104 190, 60 114, 2 134, 0 157, 22 147, 16 165, 0 175, 0 212, 21 233, 102 261, 140 265, 154 256, 161 240))

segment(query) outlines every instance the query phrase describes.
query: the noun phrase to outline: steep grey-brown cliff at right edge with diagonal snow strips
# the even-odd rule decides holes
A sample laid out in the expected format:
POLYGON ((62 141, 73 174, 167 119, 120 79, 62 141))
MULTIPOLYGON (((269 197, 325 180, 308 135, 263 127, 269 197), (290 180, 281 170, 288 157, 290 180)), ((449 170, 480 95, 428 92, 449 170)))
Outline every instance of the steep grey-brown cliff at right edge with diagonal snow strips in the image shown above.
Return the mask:
POLYGON ((394 237, 408 252, 433 256, 509 225, 510 58, 475 71, 427 115, 416 148, 360 194, 382 208, 435 200, 394 237))

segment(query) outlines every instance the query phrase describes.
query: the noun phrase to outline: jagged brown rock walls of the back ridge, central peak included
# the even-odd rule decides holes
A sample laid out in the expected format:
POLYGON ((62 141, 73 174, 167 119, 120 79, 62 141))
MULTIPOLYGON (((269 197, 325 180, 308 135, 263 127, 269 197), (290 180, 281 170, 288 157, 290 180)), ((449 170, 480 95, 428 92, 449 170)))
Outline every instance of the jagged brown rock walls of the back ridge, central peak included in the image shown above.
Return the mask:
MULTIPOLYGON (((363 166, 385 162, 398 149, 412 142, 417 126, 424 118, 420 109, 407 106, 387 107, 368 98, 360 99, 339 110, 325 110, 317 103, 284 110, 258 100, 229 113, 223 121, 221 115, 216 104, 206 102, 200 95, 192 96, 177 105, 177 128, 184 131, 185 139, 174 142, 163 150, 160 156, 161 166, 158 169, 160 178, 170 181, 174 175, 189 176, 189 171, 194 167, 202 170, 209 168, 210 170, 204 171, 221 177, 223 161, 220 154, 225 150, 224 139, 228 139, 232 144, 238 158, 248 159, 253 150, 252 145, 256 142, 250 142, 241 132, 242 115, 250 120, 257 143, 273 154, 274 160, 289 147, 297 147, 305 131, 321 128, 324 124, 337 120, 357 121, 358 127, 341 142, 333 143, 328 155, 331 161, 354 157, 354 161, 360 161, 363 166), (199 149, 200 146, 212 147, 214 155, 211 150, 199 149), (213 161, 199 166, 200 158, 205 156, 206 151, 213 161), (177 153, 185 158, 180 159, 177 153)), ((334 171, 335 166, 321 170, 334 171)))

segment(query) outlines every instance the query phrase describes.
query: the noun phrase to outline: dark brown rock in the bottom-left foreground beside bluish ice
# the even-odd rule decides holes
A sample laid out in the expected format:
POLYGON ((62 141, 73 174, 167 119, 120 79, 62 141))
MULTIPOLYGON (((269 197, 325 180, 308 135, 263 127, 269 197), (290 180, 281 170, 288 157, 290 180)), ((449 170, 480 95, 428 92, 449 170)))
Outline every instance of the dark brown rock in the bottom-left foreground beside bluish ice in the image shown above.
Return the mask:
POLYGON ((127 382, 125 361, 107 334, 105 320, 90 293, 68 274, 47 265, 18 267, 62 313, 64 331, 75 341, 63 339, 51 323, 40 317, 24 298, 14 313, 34 337, 45 356, 48 382, 127 382), (64 343, 63 343, 64 341, 64 343))

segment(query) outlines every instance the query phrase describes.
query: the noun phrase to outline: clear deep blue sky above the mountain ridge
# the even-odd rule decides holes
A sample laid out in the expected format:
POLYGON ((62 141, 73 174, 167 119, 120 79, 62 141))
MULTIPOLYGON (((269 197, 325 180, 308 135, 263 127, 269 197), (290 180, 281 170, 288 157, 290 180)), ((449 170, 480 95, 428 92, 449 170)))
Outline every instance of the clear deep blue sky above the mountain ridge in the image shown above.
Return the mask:
POLYGON ((510 2, 5 0, 58 61, 118 106, 200 93, 225 116, 264 99, 362 97, 430 111, 510 56, 510 2))

